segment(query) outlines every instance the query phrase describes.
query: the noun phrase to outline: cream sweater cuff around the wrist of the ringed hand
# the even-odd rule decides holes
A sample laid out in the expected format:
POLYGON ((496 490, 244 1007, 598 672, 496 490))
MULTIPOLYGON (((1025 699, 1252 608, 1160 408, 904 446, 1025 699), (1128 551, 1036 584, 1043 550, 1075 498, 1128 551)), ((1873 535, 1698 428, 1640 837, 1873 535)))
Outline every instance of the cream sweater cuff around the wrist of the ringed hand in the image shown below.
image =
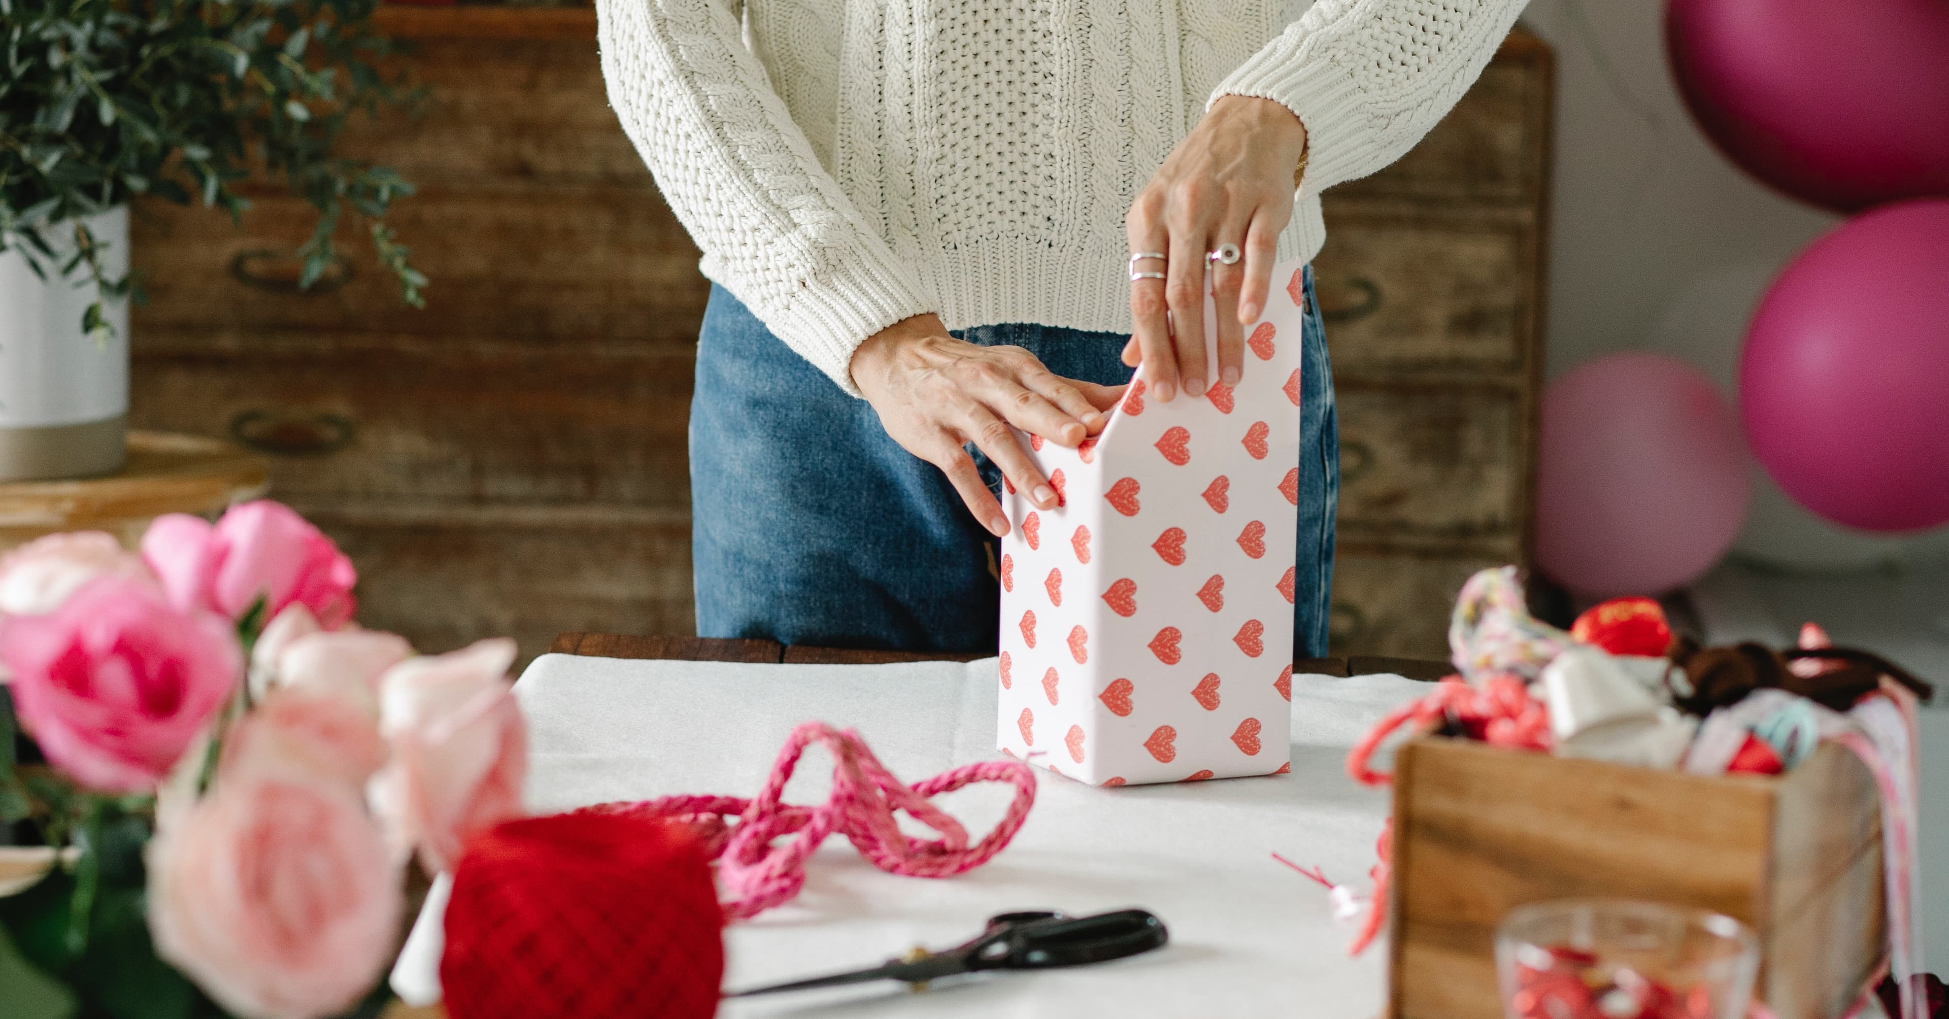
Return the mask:
POLYGON ((1220 95, 1253 95, 1290 109, 1306 125, 1306 189, 1364 177, 1376 170, 1380 131, 1370 123, 1360 86, 1325 53, 1275 37, 1238 70, 1218 82, 1220 95))

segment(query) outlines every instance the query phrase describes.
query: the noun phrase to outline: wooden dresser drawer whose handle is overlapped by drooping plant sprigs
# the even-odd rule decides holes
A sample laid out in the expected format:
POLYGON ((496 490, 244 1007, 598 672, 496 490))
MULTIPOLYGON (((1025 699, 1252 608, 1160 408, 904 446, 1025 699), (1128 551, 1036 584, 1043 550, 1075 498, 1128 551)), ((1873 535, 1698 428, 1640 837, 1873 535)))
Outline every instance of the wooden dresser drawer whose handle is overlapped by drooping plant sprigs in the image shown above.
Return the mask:
POLYGON ((133 255, 148 304, 134 310, 133 331, 682 347, 704 320, 709 283, 698 275, 698 251, 649 187, 427 191, 400 201, 390 220, 413 265, 433 279, 425 310, 400 302, 398 281, 353 224, 337 238, 341 263, 300 292, 290 251, 310 236, 316 212, 298 199, 255 197, 242 228, 209 208, 138 203, 133 255))

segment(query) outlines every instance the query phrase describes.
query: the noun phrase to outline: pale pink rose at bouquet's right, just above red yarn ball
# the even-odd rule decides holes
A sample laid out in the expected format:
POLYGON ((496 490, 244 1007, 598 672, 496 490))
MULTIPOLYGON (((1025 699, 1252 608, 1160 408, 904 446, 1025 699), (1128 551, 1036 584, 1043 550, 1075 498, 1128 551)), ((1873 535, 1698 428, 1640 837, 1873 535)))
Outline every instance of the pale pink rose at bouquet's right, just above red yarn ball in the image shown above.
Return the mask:
POLYGON ((374 797, 396 834, 444 871, 468 838, 520 816, 528 736, 509 692, 505 637, 392 666, 380 680, 380 731, 392 764, 374 797))

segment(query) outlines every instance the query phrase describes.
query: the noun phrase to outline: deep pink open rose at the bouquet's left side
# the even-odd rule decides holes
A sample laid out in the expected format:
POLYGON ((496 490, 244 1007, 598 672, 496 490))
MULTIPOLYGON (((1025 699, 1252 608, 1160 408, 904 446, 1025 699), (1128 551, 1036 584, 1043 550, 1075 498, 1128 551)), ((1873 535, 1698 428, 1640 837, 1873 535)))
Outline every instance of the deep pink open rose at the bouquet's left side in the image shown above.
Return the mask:
POLYGON ((0 618, 19 719, 49 762, 101 791, 152 789, 230 698, 242 659, 228 622, 129 577, 0 618))

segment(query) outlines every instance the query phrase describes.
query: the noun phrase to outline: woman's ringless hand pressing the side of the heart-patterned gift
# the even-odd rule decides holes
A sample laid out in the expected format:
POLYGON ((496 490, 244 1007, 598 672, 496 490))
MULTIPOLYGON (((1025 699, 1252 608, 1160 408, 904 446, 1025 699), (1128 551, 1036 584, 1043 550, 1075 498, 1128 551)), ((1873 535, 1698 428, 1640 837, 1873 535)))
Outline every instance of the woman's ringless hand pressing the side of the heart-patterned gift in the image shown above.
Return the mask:
POLYGON ((1039 509, 1056 505, 1056 491, 1035 470, 1010 425, 1062 446, 1103 431, 1105 411, 1123 386, 1062 378, 1021 347, 982 347, 947 335, 937 316, 897 321, 860 345, 852 359, 854 384, 879 423, 906 452, 934 464, 996 536, 1008 516, 982 483, 965 442, 988 454, 1015 491, 1039 509))

